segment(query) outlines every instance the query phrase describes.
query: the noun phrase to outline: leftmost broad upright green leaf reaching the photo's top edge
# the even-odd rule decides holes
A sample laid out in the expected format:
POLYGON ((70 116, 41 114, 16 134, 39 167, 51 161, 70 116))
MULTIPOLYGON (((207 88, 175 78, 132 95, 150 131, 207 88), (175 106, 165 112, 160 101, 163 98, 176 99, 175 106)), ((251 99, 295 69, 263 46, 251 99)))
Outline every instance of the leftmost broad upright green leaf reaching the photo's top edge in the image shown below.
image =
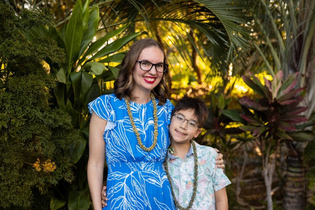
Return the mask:
POLYGON ((79 56, 81 41, 83 38, 82 25, 82 4, 77 0, 72 16, 68 22, 65 34, 65 43, 68 57, 68 72, 71 71, 71 65, 79 56))

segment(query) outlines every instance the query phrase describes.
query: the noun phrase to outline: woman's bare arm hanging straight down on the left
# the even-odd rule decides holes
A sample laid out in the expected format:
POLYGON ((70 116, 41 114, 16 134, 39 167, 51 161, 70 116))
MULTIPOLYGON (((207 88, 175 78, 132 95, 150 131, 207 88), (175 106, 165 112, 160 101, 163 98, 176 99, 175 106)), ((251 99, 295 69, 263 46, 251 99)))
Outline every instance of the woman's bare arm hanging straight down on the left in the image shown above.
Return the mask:
POLYGON ((105 141, 103 138, 107 121, 93 114, 89 131, 88 182, 95 210, 102 209, 100 192, 105 164, 105 141))

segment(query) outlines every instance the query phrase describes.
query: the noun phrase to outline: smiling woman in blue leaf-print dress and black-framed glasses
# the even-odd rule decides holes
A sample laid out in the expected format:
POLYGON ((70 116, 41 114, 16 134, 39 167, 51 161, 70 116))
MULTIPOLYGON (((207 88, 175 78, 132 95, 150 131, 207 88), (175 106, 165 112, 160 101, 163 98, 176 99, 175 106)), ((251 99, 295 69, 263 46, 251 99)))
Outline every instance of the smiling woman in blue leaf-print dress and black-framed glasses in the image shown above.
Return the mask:
POLYGON ((95 210, 102 208, 105 151, 107 209, 175 209, 162 168, 174 108, 167 99, 167 67, 159 43, 139 40, 123 59, 114 94, 89 103, 88 181, 95 210))

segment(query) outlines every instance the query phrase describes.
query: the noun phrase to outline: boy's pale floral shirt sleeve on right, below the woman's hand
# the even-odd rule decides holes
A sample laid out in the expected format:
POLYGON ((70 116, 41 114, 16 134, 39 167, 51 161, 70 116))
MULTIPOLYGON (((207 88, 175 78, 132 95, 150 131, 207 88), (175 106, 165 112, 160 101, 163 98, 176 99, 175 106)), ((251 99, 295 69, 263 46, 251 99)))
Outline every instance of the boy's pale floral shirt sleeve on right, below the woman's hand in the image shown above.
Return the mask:
POLYGON ((231 184, 231 181, 227 178, 227 176, 223 173, 223 169, 221 168, 215 168, 215 157, 218 156, 217 152, 209 147, 209 152, 210 152, 210 158, 212 161, 209 161, 211 164, 210 171, 212 171, 211 174, 211 179, 212 179, 212 184, 213 184, 213 190, 218 191, 224 188, 225 186, 231 184))

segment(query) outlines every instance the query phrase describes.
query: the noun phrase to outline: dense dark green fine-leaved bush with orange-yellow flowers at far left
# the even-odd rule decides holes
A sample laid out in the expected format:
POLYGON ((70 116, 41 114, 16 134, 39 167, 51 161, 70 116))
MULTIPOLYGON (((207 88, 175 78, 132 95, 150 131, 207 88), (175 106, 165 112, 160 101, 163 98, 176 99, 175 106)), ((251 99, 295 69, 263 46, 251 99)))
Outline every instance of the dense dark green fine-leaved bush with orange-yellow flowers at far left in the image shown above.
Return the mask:
POLYGON ((55 81, 43 67, 46 58, 64 62, 65 53, 54 40, 23 36, 35 24, 53 23, 47 14, 23 10, 18 18, 0 2, 0 208, 47 209, 38 195, 49 197, 50 186, 73 179, 64 150, 80 137, 71 117, 50 107, 55 81))

